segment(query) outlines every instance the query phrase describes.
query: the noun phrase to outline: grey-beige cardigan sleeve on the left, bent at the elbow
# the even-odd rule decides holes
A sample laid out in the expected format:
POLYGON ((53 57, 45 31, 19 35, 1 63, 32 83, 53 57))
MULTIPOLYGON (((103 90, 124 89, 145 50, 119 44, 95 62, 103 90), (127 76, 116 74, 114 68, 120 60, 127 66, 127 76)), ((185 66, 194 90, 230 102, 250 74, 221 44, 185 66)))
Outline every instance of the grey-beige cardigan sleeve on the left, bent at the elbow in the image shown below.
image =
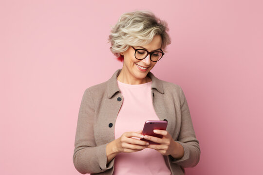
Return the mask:
POLYGON ((74 166, 83 175, 100 173, 113 168, 113 160, 107 165, 107 144, 97 146, 95 143, 94 112, 94 102, 87 88, 79 108, 73 155, 74 166))

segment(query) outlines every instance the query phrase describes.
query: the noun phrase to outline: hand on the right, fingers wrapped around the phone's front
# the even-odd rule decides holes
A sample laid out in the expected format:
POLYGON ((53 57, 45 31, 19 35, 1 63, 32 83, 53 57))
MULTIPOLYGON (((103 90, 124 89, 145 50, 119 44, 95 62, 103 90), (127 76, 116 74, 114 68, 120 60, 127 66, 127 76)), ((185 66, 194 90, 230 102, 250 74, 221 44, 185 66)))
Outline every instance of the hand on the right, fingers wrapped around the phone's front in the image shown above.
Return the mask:
POLYGON ((166 130, 154 129, 154 133, 163 135, 163 138, 157 138, 153 136, 145 135, 144 139, 160 143, 160 144, 150 144, 148 148, 155 149, 164 156, 171 155, 175 159, 180 159, 184 156, 184 148, 180 143, 174 141, 171 135, 166 130))

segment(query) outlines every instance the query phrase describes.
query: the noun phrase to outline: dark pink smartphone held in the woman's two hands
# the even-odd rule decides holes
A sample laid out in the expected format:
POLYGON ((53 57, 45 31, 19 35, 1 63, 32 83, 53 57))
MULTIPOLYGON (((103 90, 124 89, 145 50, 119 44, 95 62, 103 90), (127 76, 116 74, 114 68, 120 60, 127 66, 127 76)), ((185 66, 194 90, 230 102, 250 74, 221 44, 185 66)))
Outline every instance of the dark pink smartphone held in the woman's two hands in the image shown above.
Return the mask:
MULTIPOLYGON (((155 134, 153 132, 153 129, 166 130, 167 124, 168 124, 167 121, 146 121, 144 123, 142 135, 149 135, 149 136, 153 136, 153 137, 163 138, 163 135, 155 134)), ((141 140, 148 141, 149 144, 159 144, 159 143, 156 143, 156 142, 153 142, 150 140, 146 140, 144 138, 141 140)))

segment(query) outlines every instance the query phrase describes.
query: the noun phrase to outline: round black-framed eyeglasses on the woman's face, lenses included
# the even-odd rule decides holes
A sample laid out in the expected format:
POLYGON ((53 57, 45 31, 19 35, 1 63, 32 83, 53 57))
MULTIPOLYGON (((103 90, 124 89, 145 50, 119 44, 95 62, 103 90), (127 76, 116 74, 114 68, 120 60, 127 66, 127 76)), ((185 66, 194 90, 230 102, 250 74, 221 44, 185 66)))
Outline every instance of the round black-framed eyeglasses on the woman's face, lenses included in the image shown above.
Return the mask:
POLYGON ((132 48, 135 51, 134 56, 138 60, 143 60, 144 58, 146 58, 150 54, 150 60, 153 62, 156 62, 156 61, 159 61, 164 55, 164 52, 161 49, 160 49, 161 52, 160 51, 148 52, 145 49, 135 49, 134 47, 132 47, 132 48))

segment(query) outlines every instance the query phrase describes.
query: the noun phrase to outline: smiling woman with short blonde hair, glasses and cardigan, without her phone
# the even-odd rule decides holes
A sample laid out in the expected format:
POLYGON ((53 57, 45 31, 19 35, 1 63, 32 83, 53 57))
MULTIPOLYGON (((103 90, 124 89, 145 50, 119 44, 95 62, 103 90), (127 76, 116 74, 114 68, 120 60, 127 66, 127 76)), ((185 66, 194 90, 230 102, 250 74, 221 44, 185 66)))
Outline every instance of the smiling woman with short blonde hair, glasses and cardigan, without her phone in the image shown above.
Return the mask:
POLYGON ((185 167, 199 162, 182 88, 150 72, 170 44, 167 31, 166 22, 149 11, 123 14, 113 27, 111 51, 123 67, 84 92, 73 156, 81 174, 184 175, 185 167), (168 121, 167 130, 155 131, 162 139, 142 135, 147 120, 168 121))

